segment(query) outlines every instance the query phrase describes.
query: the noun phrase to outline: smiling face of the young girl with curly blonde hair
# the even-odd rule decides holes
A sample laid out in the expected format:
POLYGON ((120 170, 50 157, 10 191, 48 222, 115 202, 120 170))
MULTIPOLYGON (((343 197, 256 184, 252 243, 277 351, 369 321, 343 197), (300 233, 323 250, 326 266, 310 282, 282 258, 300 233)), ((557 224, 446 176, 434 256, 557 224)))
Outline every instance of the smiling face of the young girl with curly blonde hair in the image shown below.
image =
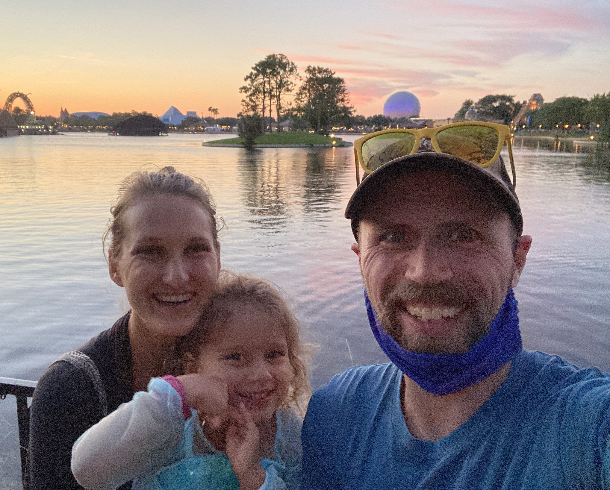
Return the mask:
POLYGON ((227 383, 229 405, 242 402, 255 423, 273 417, 288 395, 293 372, 278 321, 251 302, 233 304, 224 324, 214 325, 199 350, 199 374, 227 383))

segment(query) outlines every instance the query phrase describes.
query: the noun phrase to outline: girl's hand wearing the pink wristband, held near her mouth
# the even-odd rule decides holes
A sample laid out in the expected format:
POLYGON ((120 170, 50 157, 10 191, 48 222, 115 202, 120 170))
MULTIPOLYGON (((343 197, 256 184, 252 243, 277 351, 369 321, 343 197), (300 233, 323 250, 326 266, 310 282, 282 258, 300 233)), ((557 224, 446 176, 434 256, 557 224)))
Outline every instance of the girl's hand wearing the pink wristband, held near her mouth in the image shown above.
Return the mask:
POLYGON ((229 389, 220 378, 204 374, 178 376, 184 386, 188 406, 195 408, 212 427, 220 427, 228 416, 229 389))

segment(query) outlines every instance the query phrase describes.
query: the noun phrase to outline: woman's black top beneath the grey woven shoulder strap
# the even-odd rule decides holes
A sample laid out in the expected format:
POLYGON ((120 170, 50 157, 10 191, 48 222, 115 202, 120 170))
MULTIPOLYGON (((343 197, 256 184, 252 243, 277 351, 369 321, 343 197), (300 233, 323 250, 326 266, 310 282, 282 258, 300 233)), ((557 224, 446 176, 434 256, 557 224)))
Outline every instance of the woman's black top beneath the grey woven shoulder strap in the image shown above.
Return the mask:
MULTIPOLYGON (((129 313, 79 347, 99 369, 109 413, 134 396, 128 320, 129 313)), ((70 470, 72 446, 100 419, 98 397, 90 378, 70 363, 52 364, 38 381, 32 397, 24 489, 82 489, 70 470)), ((131 481, 119 488, 130 489, 131 481)))

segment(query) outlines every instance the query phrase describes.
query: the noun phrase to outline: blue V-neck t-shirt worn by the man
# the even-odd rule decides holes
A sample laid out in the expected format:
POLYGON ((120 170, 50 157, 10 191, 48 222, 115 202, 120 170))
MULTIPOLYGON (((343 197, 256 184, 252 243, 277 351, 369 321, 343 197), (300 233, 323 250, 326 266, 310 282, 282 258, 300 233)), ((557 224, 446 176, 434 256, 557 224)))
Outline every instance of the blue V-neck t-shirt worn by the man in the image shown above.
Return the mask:
POLYGON ((508 379, 438 442, 409 433, 393 364, 361 366, 312 397, 303 490, 610 490, 610 374, 523 350, 508 379))

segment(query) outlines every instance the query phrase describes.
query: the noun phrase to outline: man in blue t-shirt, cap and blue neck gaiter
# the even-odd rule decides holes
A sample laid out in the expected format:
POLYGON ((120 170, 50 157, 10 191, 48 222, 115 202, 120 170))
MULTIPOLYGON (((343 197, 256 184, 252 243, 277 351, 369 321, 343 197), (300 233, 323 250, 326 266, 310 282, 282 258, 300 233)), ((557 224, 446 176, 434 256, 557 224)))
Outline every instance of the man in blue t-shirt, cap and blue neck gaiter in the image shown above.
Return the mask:
MULTIPOLYGON (((522 349, 512 288, 532 239, 503 141, 488 162, 423 131, 432 141, 376 163, 347 205, 392 362, 314 394, 303 489, 610 489, 610 375, 522 349)), ((375 145, 355 146, 370 171, 375 145)))

